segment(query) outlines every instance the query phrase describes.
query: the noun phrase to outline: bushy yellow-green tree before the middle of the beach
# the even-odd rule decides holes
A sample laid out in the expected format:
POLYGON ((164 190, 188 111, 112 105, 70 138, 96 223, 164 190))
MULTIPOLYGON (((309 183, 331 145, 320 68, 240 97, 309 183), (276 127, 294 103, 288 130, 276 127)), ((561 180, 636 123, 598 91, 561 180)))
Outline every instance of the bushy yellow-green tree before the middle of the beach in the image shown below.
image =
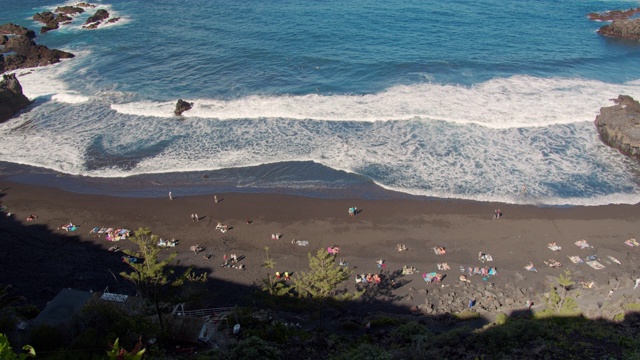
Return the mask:
POLYGON ((337 266, 335 256, 329 254, 326 249, 318 250, 315 256, 311 256, 311 253, 307 256, 311 271, 298 274, 293 285, 300 297, 324 303, 329 299, 356 299, 364 294, 364 290, 353 293, 339 291, 340 285, 351 277, 351 271, 346 267, 337 266))

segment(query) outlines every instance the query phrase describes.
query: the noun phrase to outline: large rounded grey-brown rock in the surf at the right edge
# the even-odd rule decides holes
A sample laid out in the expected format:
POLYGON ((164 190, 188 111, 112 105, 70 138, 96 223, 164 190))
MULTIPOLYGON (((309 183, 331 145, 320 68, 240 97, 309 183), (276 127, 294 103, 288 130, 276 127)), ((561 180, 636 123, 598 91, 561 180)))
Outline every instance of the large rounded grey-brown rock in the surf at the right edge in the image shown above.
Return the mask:
POLYGON ((614 106, 601 108, 596 116, 600 138, 620 152, 640 159, 640 103, 627 95, 613 101, 614 106))

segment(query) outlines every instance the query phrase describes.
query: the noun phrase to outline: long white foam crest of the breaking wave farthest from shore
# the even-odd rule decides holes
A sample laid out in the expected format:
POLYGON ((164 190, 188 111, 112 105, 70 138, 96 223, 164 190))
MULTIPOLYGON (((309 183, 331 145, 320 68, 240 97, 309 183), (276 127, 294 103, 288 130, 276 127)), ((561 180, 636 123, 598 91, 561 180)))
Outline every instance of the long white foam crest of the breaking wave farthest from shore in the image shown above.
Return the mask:
MULTIPOLYGON (((441 120, 490 128, 521 128, 592 120, 609 99, 640 96, 638 81, 600 81, 512 76, 471 87, 404 85, 371 95, 247 96, 234 100, 194 99, 185 117, 205 119, 284 118, 321 121, 441 120)), ((173 117, 173 102, 114 104, 123 114, 173 117)))

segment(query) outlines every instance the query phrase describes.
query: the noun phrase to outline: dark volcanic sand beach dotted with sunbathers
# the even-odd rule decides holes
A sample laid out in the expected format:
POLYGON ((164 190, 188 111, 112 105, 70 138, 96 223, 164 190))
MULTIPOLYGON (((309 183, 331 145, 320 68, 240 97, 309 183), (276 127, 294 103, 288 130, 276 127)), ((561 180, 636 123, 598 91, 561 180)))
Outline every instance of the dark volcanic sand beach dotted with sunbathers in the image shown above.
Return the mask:
MULTIPOLYGON (((381 285, 367 285, 370 296, 379 295, 383 300, 378 306, 393 305, 396 311, 407 313, 425 301, 438 304, 439 298, 459 296, 454 293, 482 296, 479 291, 489 288, 511 299, 503 301, 502 311, 521 308, 527 300, 539 306, 552 277, 564 270, 570 270, 577 281, 594 281, 595 286, 584 290, 580 299, 587 308, 604 300, 611 289, 616 292, 610 301, 636 299, 640 294, 640 289, 637 293, 633 290, 640 275, 640 247, 624 243, 640 238, 640 207, 636 205, 549 208, 456 200, 326 200, 241 193, 217 193, 219 201, 215 203, 213 193, 181 196, 173 192, 173 200, 168 194, 163 198, 121 198, 9 181, 0 181, 0 189, 5 213, 11 213, 0 218, 0 283, 14 285, 19 294, 39 306, 67 287, 102 291, 109 286, 112 291, 131 291, 117 275, 127 269, 122 253, 107 249, 114 245, 134 249, 134 245, 90 234, 92 228, 103 226, 149 227, 164 239, 179 240, 177 247, 164 251, 178 251, 180 266, 193 265, 196 271, 208 272, 211 291, 206 306, 246 302, 261 279, 275 271, 288 271, 295 281, 296 273, 308 270, 307 254, 331 245, 340 247, 337 257, 346 260, 354 274, 382 274, 381 285), (358 215, 349 216, 352 206, 360 209, 358 215), (497 208, 504 215, 494 220, 497 208), (198 214, 199 221, 191 220, 192 213, 198 214), (27 221, 31 214, 37 219, 27 221), (79 225, 78 229, 59 229, 69 222, 79 225), (218 222, 229 231, 216 230, 218 222), (275 233, 282 237, 273 240, 275 233), (306 240, 309 246, 293 245, 294 239, 306 240), (591 248, 575 245, 583 239, 591 248), (550 242, 562 249, 551 251, 547 248, 550 242), (194 254, 189 248, 196 244, 206 250, 194 254), (397 251, 397 244, 408 250, 397 251), (445 247, 446 254, 436 255, 436 246, 445 247), (265 247, 276 262, 274 269, 261 266, 265 247), (479 252, 490 254, 493 261, 481 263, 479 252), (241 263, 246 270, 220 267, 223 256, 231 253, 244 257, 241 263), (210 259, 203 257, 207 254, 210 259), (571 255, 582 259, 596 255, 604 269, 574 265, 568 258, 571 255), (546 266, 544 261, 552 258, 563 267, 546 266), (377 266, 378 259, 384 259, 384 268, 377 266), (444 262, 450 270, 439 271, 437 264, 444 262), (524 269, 529 262, 538 272, 524 269), (418 273, 402 276, 404 265, 417 268, 418 273), (492 266, 497 275, 485 280, 467 273, 469 282, 462 282, 461 266, 492 266), (435 271, 446 275, 442 284, 427 284, 421 274, 435 271), (394 287, 388 285, 391 279, 394 287), (381 291, 383 286, 385 291, 381 291)), ((348 286, 355 288, 356 284, 349 281, 348 286)), ((464 304, 468 301, 459 299, 464 304)))

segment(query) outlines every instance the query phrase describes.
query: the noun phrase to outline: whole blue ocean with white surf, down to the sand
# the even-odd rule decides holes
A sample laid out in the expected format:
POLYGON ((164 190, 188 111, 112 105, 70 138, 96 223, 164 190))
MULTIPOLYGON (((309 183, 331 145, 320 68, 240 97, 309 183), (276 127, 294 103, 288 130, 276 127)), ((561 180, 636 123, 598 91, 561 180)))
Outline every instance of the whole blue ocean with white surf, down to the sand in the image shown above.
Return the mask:
MULTIPOLYGON (((61 5, 2 0, 36 30, 61 5)), ((593 121, 640 99, 640 42, 586 15, 638 1, 92 2, 120 20, 41 34, 72 52, 16 71, 0 171, 118 196, 214 191, 640 202, 640 163, 593 121), (193 102, 173 114, 178 99, 193 102)))

